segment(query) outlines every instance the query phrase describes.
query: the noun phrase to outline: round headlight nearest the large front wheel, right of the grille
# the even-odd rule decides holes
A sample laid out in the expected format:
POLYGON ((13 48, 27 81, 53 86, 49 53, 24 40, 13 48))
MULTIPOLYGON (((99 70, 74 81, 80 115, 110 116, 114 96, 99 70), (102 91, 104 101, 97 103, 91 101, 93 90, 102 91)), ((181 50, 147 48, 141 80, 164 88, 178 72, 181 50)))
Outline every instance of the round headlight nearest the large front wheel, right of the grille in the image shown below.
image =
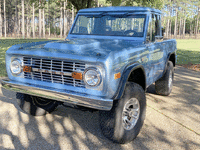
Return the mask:
POLYGON ((97 86, 101 82, 101 75, 96 68, 88 68, 84 73, 84 82, 89 86, 97 86))

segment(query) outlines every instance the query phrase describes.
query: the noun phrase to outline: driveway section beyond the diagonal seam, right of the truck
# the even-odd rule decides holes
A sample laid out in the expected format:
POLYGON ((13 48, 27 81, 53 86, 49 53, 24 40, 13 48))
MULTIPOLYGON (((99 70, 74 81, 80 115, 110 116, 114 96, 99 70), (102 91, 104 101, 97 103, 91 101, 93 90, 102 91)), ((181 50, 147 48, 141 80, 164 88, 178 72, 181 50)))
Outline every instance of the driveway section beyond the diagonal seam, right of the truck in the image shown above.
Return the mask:
POLYGON ((178 66, 172 93, 169 96, 157 95, 153 84, 147 89, 147 104, 200 135, 199 83, 200 72, 178 66))

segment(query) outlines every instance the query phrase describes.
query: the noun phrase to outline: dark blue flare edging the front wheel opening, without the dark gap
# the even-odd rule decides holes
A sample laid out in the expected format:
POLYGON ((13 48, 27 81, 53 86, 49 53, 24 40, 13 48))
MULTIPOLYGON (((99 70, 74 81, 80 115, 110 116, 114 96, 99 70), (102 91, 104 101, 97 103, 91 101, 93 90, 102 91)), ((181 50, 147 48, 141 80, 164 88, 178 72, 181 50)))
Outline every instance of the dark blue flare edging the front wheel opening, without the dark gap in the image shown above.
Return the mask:
POLYGON ((145 83, 144 83, 144 87, 143 88, 146 89, 146 75, 145 75, 144 67, 139 63, 130 64, 123 71, 122 78, 120 80, 117 92, 115 93, 115 95, 112 98, 113 100, 117 100, 117 99, 120 99, 122 97, 122 95, 124 93, 124 89, 126 87, 126 83, 128 81, 128 78, 129 78, 130 74, 134 70, 139 69, 139 68, 143 70, 143 73, 144 73, 144 76, 145 76, 145 81, 144 81, 145 83))

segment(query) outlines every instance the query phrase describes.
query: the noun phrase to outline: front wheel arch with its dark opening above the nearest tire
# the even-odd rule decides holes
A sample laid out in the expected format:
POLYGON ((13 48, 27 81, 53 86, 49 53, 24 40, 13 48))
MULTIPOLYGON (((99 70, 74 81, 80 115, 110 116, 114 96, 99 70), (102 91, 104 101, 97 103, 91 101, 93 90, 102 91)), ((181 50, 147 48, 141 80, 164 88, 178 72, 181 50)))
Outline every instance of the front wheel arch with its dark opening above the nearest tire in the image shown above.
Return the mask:
POLYGON ((113 99, 120 99, 123 95, 127 81, 139 84, 146 91, 146 75, 144 67, 141 64, 134 63, 128 65, 122 74, 118 89, 113 99))

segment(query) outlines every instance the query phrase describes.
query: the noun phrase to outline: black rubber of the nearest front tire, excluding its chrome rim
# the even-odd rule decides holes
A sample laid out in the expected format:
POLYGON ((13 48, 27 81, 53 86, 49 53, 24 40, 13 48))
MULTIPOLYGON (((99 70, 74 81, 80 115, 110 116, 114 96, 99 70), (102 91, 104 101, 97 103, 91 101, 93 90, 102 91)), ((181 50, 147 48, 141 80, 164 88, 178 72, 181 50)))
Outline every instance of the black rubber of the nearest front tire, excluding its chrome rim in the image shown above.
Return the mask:
POLYGON ((126 84, 123 96, 120 100, 114 101, 110 111, 99 111, 100 128, 105 137, 116 143, 127 143, 136 138, 143 125, 146 114, 146 96, 143 88, 133 82, 126 84), (137 99, 139 103, 138 120, 132 129, 124 128, 123 110, 132 99, 137 99))

